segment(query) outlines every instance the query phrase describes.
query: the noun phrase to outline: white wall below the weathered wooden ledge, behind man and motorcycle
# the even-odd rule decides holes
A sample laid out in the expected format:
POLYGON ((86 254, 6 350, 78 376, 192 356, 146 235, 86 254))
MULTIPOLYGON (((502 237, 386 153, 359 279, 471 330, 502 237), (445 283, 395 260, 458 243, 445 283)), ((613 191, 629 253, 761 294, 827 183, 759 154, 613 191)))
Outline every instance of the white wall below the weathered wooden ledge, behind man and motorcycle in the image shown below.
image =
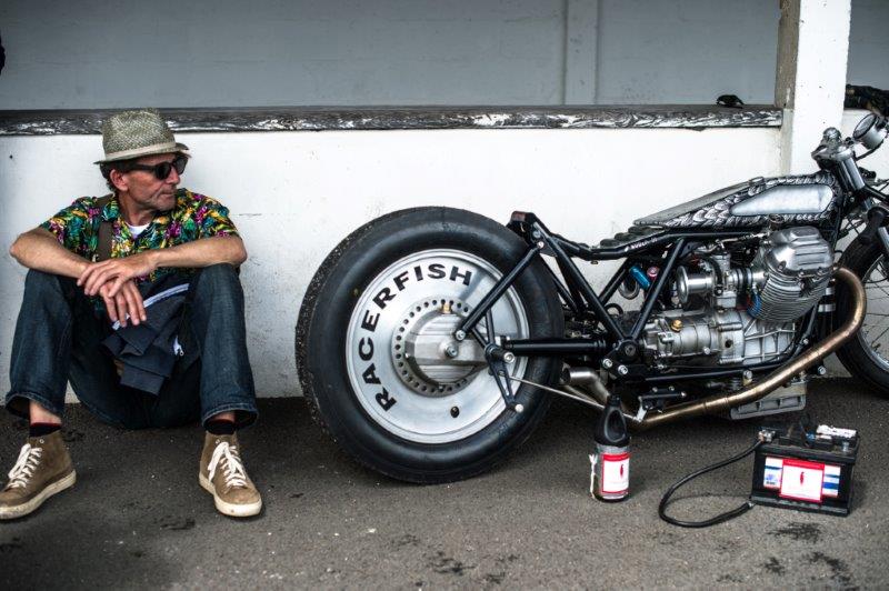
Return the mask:
MULTIPOLYGON (((721 186, 777 173, 778 129, 453 130, 181 133, 186 184, 232 211, 260 395, 298 393, 293 328, 318 264, 371 218, 421 204, 506 222, 537 212, 596 242, 631 221, 721 186)), ((81 194, 104 187, 98 136, 0 137, 0 249, 81 194)), ((589 267, 599 280, 609 266, 589 267)), ((0 257, 0 391, 24 269, 0 257)))

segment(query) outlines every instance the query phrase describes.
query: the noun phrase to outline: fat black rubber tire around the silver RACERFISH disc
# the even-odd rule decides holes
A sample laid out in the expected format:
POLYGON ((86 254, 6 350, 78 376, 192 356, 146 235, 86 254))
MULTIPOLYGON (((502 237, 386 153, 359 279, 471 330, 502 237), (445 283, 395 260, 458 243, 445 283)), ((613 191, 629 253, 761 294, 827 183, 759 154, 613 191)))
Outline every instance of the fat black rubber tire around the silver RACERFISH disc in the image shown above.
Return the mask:
MULTIPOLYGON (((300 384, 314 420, 360 463, 417 483, 455 481, 489 470, 531 434, 549 407, 545 392, 521 385, 517 398, 523 412, 503 408, 477 432, 442 443, 411 441, 369 414, 349 378, 349 324, 378 276, 394 262, 429 249, 482 259, 505 274, 527 246, 503 226, 465 210, 417 208, 383 216, 352 232, 323 261, 303 299, 296 333, 300 384)), ((527 317, 530 338, 563 334, 561 304, 543 264, 532 262, 513 283, 513 298, 517 296, 527 317)), ((398 300, 392 305, 399 305, 398 300)), ((560 367, 559 359, 530 358, 523 377, 553 383, 560 367)), ((489 380, 496 389, 485 370, 475 379, 489 380)))

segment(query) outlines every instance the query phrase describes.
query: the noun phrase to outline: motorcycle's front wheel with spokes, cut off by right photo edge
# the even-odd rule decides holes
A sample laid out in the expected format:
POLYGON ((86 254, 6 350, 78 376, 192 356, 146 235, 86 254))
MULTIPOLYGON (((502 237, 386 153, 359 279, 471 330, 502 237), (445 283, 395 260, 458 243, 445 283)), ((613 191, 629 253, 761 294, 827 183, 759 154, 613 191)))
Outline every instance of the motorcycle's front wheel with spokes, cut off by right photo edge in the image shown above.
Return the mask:
MULTIPOLYGON (((843 253, 841 264, 861 279, 867 313, 861 329, 837 351, 837 357, 849 373, 868 382, 878 394, 889 397, 889 262, 879 240, 871 244, 856 240, 843 253)), ((845 322, 849 309, 848 290, 838 283, 835 325, 845 322)))

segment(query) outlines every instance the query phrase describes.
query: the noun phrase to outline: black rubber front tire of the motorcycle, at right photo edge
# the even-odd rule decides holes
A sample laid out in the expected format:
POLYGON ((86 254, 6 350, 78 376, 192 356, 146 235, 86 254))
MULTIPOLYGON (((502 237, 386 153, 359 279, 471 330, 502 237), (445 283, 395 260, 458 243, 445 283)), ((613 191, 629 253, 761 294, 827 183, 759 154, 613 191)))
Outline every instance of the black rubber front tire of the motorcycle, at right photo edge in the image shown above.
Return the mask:
MULTIPOLYGON (((875 241, 872 244, 863 244, 856 240, 846 249, 841 264, 848 267, 863 282, 868 270, 880 257, 882 257, 882 248, 879 241, 875 241)), ((867 291, 867 284, 865 288, 867 291)), ((871 303, 868 305, 871 305, 871 303)), ((835 327, 839 327, 846 321, 845 312, 850 309, 849 291, 843 283, 838 282, 835 327)), ((869 344, 865 332, 859 330, 855 337, 849 339, 837 351, 837 357, 849 373, 867 382, 877 394, 889 398, 889 367, 882 365, 875 360, 868 353, 868 348, 869 344)), ((886 354, 889 354, 889 351, 886 354)))

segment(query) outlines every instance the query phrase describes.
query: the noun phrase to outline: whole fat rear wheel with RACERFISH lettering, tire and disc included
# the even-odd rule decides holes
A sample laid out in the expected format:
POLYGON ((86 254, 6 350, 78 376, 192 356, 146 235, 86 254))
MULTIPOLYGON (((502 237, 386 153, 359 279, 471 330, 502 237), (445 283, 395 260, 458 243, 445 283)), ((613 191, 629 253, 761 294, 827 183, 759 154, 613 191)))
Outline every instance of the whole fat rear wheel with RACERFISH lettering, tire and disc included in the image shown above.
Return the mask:
MULTIPOLYGON (((525 411, 508 410, 478 343, 452 337, 527 248, 476 213, 418 208, 373 220, 333 249, 309 286, 296 344, 313 415, 346 451, 393 478, 442 482, 489 469, 528 438, 547 395, 522 385, 525 411)), ((542 261, 495 303, 490 321, 513 339, 562 334, 542 261)), ((511 374, 551 383, 559 368, 558 359, 518 358, 511 374)))

